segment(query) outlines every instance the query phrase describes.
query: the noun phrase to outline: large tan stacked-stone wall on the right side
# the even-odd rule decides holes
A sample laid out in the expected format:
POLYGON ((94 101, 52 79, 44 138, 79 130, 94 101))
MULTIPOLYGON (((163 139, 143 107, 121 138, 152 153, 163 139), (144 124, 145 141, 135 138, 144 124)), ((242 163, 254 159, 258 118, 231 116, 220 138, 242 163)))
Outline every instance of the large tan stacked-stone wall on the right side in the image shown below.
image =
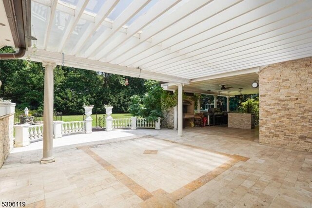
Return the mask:
POLYGON ((259 142, 312 152, 312 57, 259 73, 259 142))

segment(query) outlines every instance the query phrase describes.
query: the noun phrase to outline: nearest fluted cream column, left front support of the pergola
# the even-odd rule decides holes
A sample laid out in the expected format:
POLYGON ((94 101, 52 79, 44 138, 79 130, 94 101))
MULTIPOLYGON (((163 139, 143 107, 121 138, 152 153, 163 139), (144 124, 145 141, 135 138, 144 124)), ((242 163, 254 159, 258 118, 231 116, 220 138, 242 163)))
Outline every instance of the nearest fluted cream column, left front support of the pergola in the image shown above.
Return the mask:
POLYGON ((44 69, 43 157, 41 164, 54 162, 53 156, 53 70, 56 63, 42 62, 44 69))

